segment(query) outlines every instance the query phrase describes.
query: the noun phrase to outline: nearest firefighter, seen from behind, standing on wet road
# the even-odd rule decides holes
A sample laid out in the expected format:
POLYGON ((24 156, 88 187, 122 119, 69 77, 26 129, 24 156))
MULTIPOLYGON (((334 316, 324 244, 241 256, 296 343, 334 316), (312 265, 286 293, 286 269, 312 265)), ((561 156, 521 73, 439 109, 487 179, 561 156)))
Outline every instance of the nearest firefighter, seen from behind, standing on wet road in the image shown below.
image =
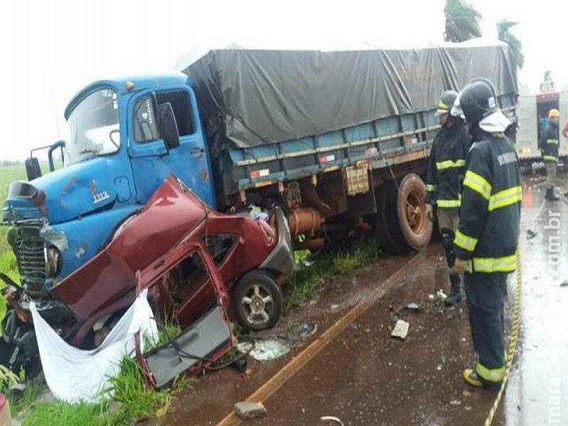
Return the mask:
POLYGON ((500 386, 505 374, 503 300, 515 271, 520 204, 520 170, 510 124, 497 107, 488 80, 474 80, 456 102, 472 136, 462 185, 459 227, 454 244, 458 271, 464 271, 469 324, 479 362, 463 372, 478 387, 500 386))

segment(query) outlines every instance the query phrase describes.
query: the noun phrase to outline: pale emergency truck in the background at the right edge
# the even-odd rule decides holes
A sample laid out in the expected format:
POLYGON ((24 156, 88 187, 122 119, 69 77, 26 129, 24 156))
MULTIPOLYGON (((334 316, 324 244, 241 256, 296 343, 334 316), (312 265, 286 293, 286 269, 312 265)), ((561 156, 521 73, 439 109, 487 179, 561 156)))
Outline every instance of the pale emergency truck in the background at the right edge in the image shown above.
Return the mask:
POLYGON ((568 121, 568 91, 523 94, 518 99, 517 152, 521 163, 530 165, 542 161, 538 141, 540 133, 548 122, 548 111, 560 111, 559 156, 564 163, 568 157, 568 140, 562 136, 564 124, 568 121))

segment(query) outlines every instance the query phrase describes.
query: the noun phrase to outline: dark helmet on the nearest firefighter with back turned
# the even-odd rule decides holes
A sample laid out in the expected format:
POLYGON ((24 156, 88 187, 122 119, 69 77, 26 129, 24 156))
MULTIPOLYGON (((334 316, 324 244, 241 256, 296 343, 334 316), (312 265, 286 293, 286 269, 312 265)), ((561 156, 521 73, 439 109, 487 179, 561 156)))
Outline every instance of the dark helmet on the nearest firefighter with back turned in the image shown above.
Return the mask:
POLYGON ((459 105, 469 126, 475 127, 484 117, 498 111, 495 88, 489 80, 472 80, 461 90, 459 105))

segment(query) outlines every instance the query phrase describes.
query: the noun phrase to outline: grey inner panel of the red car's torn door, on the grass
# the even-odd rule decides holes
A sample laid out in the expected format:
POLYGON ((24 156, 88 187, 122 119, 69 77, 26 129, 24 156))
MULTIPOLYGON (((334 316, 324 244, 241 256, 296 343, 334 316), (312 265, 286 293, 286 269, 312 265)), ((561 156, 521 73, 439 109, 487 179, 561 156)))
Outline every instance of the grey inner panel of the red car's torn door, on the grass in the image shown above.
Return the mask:
POLYGON ((192 327, 144 354, 143 358, 155 388, 162 389, 176 377, 197 373, 200 368, 216 361, 229 351, 231 344, 229 324, 222 307, 216 305, 192 327))

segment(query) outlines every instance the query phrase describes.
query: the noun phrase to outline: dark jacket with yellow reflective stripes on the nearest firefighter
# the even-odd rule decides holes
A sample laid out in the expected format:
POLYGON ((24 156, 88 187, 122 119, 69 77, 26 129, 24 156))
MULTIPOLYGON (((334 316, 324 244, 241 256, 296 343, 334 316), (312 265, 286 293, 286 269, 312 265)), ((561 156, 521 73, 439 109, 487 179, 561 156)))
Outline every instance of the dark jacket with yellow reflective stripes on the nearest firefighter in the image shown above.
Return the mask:
POLYGON ((468 271, 515 270, 522 190, 518 157, 503 133, 477 128, 466 158, 459 227, 454 239, 468 271))

